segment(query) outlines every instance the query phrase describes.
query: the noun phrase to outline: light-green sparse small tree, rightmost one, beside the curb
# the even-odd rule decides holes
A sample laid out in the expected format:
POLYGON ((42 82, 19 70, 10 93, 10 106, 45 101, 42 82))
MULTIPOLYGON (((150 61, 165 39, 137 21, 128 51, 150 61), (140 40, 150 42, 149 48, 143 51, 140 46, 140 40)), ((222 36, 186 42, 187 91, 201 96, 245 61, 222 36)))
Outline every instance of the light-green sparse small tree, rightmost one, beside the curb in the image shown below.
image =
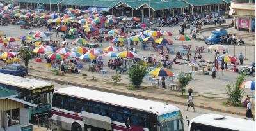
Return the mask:
POLYGON ((239 105, 239 103, 241 102, 241 99, 244 96, 244 89, 240 88, 240 85, 243 83, 243 81, 245 80, 244 78, 244 74, 240 74, 238 76, 238 78, 236 79, 236 83, 235 85, 231 83, 229 83, 226 88, 226 92, 229 96, 228 98, 228 102, 230 102, 230 104, 232 104, 232 106, 236 106, 239 105))

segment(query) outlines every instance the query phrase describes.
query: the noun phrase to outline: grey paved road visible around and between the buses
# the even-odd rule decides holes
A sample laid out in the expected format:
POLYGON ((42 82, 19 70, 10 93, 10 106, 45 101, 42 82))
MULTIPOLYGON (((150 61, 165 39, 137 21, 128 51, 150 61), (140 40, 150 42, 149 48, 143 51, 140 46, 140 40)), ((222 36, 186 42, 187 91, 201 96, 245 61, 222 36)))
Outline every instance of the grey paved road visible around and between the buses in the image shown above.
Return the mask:
MULTIPOLYGON (((38 78, 30 77, 30 76, 26 76, 26 78, 38 79, 38 78)), ((42 81, 45 81, 45 80, 42 80, 42 81)), ((49 82, 51 82, 54 85, 54 88, 56 90, 58 90, 59 88, 65 88, 65 87, 71 86, 71 85, 63 85, 63 84, 56 83, 56 82, 53 82, 53 81, 49 81, 49 82)), ((159 101, 159 102, 163 102, 163 101, 159 101)), ((217 111, 211 111, 211 110, 202 109, 202 108, 196 108, 196 112, 193 112, 192 108, 189 108, 189 110, 186 111, 186 106, 180 105, 180 104, 174 104, 174 105, 180 108, 180 110, 182 111, 183 117, 184 118, 188 117, 188 120, 191 120, 192 118, 195 118, 196 116, 200 116, 201 114, 207 114, 207 113, 215 113, 215 114, 222 114, 222 115, 225 115, 225 116, 233 116, 233 117, 236 117, 236 118, 244 118, 243 116, 237 116, 237 115, 228 114, 228 113, 220 113, 220 112, 217 112, 217 111)), ((244 111, 245 111, 245 109, 244 109, 244 111)), ((187 121, 184 121, 184 129, 188 130, 187 121)))

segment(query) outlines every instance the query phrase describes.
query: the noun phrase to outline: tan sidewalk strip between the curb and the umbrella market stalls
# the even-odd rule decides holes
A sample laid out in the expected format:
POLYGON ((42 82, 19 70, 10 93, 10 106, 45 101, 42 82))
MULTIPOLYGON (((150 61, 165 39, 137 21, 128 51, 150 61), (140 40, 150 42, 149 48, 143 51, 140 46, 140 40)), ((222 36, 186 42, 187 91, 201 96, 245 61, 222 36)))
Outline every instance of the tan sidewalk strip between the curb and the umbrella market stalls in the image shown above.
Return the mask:
MULTIPOLYGON (((52 73, 52 71, 46 71, 46 68, 42 66, 45 64, 36 64, 35 62, 30 62, 30 65, 31 66, 29 66, 29 76, 33 76, 35 78, 42 78, 48 81, 55 81, 61 84, 91 88, 94 90, 101 90, 104 92, 128 95, 132 97, 138 97, 141 99, 161 100, 164 102, 182 105, 187 104, 187 99, 180 96, 181 92, 150 86, 150 83, 141 86, 141 88, 138 90, 128 90, 127 83, 120 82, 117 85, 113 85, 111 78, 103 78, 99 73, 95 73, 96 81, 92 81, 92 76, 90 74, 88 74, 87 77, 81 76, 81 74, 65 74, 64 76, 56 76, 52 73), (38 67, 38 65, 40 66, 38 67)), ((196 96, 195 94, 193 94, 193 98, 195 102, 195 107, 209 109, 212 111, 220 111, 223 113, 237 114, 241 116, 245 116, 246 113, 246 108, 244 107, 224 106, 223 102, 226 101, 225 99, 200 97, 196 96)), ((253 109, 253 114, 254 113, 255 111, 253 109)))

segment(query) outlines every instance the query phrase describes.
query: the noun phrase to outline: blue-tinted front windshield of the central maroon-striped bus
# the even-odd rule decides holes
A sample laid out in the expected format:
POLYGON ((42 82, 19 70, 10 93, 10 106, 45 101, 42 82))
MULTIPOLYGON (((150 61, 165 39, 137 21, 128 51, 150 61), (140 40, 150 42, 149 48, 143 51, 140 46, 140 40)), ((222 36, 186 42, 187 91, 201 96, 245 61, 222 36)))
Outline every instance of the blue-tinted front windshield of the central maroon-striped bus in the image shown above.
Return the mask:
POLYGON ((159 125, 161 131, 184 131, 180 111, 159 116, 159 125))

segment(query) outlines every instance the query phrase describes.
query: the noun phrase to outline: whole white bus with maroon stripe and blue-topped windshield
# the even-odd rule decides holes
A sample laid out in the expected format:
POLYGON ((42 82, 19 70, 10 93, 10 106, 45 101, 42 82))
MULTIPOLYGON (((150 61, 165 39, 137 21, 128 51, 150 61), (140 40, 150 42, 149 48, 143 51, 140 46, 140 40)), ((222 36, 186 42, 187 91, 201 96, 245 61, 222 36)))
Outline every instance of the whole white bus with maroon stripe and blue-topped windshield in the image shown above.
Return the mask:
POLYGON ((74 86, 54 91, 52 120, 72 131, 184 130, 179 107, 74 86))

